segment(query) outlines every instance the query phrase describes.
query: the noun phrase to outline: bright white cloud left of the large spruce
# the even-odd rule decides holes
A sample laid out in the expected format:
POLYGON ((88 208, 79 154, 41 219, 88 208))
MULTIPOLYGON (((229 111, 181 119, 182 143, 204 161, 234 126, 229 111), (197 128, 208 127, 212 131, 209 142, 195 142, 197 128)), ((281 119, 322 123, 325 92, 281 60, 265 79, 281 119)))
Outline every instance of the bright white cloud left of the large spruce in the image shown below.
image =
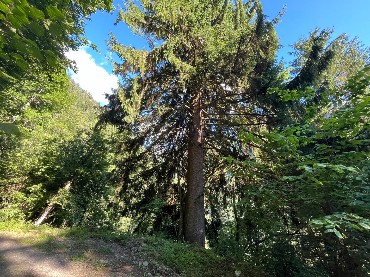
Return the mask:
POLYGON ((97 65, 92 56, 86 52, 86 48, 87 46, 84 46, 78 51, 65 53, 69 59, 74 60, 77 64, 78 72, 71 72, 71 77, 82 89, 90 92, 95 101, 106 104, 107 99, 105 99, 104 93, 111 93, 112 88, 118 87, 118 78, 97 65))

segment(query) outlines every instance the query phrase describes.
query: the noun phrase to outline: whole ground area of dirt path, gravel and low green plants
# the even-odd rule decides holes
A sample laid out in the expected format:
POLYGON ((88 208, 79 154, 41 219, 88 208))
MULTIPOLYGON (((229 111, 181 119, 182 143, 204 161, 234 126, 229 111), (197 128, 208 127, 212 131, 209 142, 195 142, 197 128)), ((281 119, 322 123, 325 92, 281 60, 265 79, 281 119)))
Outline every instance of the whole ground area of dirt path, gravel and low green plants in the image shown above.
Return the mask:
POLYGON ((0 222, 0 277, 266 277, 236 256, 164 234, 0 222))

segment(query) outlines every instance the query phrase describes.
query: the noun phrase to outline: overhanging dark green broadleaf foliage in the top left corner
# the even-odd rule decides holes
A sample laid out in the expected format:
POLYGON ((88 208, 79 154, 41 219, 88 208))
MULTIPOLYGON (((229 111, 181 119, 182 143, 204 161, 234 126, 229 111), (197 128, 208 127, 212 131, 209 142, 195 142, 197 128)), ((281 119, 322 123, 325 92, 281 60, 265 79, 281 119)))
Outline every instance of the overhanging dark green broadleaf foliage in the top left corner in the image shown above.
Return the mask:
MULTIPOLYGON (((96 49, 85 37, 85 20, 97 10, 111 12, 113 8, 112 0, 1 0, 1 86, 11 86, 20 76, 60 72, 67 66, 77 70, 65 52, 88 44, 96 49)), ((7 134, 20 134, 12 122, 0 122, 0 128, 7 134)))

